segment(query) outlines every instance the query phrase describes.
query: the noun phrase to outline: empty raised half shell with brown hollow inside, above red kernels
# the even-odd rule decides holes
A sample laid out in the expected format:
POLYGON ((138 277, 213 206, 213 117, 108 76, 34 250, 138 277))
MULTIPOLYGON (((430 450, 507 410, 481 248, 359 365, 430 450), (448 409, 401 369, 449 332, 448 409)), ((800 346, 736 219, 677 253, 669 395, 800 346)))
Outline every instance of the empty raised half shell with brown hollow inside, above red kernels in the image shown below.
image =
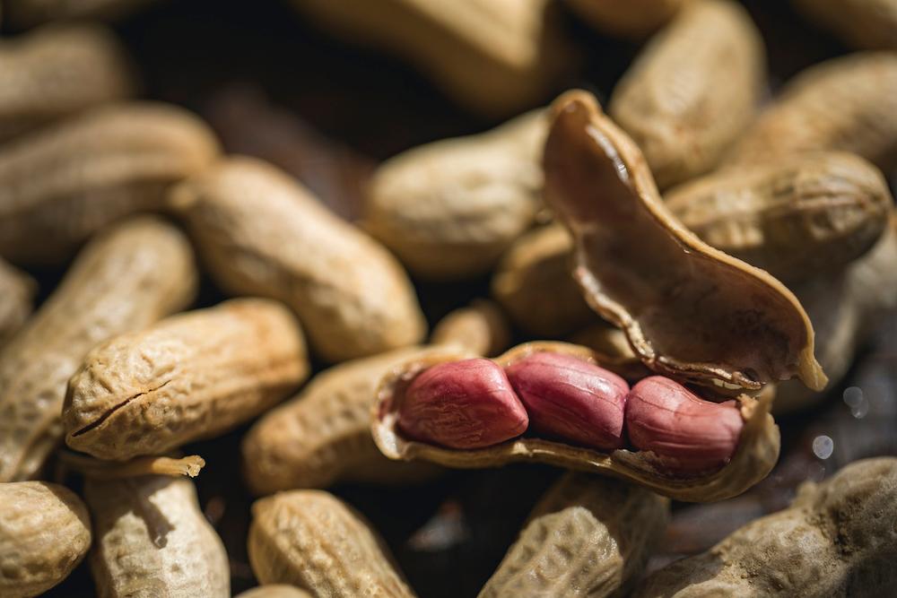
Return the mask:
POLYGON ((565 93, 554 113, 545 200, 571 230, 586 299, 645 365, 704 385, 758 389, 797 376, 822 388, 813 326, 791 291, 686 230, 593 96, 565 93))

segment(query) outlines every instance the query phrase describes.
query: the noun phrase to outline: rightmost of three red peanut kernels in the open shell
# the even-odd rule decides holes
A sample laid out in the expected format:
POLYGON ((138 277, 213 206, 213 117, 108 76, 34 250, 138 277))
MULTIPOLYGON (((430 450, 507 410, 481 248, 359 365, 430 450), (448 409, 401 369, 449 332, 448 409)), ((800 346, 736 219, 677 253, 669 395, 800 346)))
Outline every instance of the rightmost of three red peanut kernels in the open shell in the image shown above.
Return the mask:
POLYGON ((653 451, 671 472, 698 474, 727 464, 744 426, 735 401, 704 401, 666 377, 644 378, 626 402, 632 446, 653 451))

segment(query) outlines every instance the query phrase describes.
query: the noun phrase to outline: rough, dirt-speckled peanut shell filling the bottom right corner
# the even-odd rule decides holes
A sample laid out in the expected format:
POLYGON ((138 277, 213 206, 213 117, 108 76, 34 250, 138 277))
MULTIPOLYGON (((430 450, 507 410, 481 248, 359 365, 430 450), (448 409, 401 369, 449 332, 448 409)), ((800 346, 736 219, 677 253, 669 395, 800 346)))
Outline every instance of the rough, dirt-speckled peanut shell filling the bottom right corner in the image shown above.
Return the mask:
POLYGON ((652 596, 887 596, 897 592, 897 459, 849 464, 806 482, 791 507, 649 576, 652 596))

